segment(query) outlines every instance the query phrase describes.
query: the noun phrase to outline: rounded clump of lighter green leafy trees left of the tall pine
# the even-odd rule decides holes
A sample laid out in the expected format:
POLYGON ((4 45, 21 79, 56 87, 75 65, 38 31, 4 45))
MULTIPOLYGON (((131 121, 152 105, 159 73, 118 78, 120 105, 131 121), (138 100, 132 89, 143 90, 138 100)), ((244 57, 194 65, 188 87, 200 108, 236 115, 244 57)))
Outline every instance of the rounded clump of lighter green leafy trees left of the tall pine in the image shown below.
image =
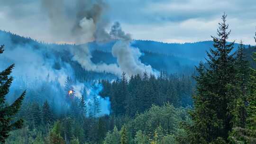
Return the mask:
POLYGON ((146 135, 153 135, 152 131, 161 126, 165 133, 171 134, 179 129, 180 122, 188 120, 185 108, 174 108, 173 105, 166 103, 162 107, 153 105, 143 114, 137 115, 129 126, 135 131, 146 132, 146 135))

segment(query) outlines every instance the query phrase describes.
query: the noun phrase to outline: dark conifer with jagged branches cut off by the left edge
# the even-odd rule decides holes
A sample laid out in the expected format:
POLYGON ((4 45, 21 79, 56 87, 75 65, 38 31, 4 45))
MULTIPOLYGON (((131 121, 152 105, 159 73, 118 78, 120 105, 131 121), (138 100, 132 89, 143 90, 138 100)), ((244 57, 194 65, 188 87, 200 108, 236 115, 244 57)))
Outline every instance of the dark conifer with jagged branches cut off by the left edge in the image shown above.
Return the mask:
MULTIPOLYGON (((0 46, 0 54, 4 51, 4 45, 0 46)), ((14 64, 10 65, 7 69, 0 72, 0 143, 4 144, 5 139, 9 136, 8 133, 11 130, 21 128, 23 120, 19 119, 13 122, 13 116, 17 114, 21 107, 22 101, 25 97, 26 91, 14 101, 10 106, 6 103, 6 95, 9 92, 9 87, 13 80, 13 77, 9 76, 14 64)))

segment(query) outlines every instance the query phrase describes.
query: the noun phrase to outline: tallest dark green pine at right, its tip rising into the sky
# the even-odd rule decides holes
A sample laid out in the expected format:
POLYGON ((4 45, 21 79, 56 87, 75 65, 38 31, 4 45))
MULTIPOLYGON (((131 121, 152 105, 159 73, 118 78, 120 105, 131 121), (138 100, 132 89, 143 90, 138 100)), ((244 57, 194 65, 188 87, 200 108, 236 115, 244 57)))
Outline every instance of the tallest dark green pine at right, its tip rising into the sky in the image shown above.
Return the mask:
POLYGON ((194 124, 190 126, 188 135, 192 144, 229 143, 229 132, 235 125, 232 110, 238 99, 237 73, 234 54, 231 54, 234 42, 227 42, 230 31, 226 18, 224 14, 222 23, 219 23, 219 37, 211 36, 214 49, 207 52, 209 68, 202 63, 197 67, 197 91, 191 113, 194 124))

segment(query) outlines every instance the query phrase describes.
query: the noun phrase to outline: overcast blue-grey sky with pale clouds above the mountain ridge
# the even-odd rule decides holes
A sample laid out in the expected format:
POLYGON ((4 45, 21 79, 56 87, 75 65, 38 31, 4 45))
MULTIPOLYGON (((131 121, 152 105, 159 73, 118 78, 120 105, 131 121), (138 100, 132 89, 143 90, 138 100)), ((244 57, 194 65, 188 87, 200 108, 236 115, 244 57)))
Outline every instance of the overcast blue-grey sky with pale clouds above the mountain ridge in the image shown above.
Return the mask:
MULTIPOLYGON (((50 20, 42 9, 42 1, 0 0, 0 29, 40 41, 58 42, 50 32, 50 20)), ((134 39, 170 43, 210 40, 210 35, 216 35, 221 15, 226 12, 230 41, 242 40, 255 45, 256 0, 103 1, 106 3, 103 15, 109 23, 105 28, 110 29, 113 22, 119 21, 134 39)))

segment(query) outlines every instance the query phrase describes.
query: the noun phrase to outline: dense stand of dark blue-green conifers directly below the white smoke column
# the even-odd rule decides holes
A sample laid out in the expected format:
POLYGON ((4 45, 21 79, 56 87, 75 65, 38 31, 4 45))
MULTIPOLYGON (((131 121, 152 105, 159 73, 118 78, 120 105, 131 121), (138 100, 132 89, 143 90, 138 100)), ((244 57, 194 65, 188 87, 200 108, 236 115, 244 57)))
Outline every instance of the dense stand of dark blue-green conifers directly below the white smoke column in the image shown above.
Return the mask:
POLYGON ((136 113, 142 113, 152 104, 163 105, 172 103, 175 107, 192 105, 192 79, 190 76, 167 76, 161 72, 158 78, 144 72, 143 77, 132 75, 129 81, 125 73, 121 80, 110 83, 101 81, 102 97, 110 96, 111 109, 114 115, 128 115, 134 117, 136 113))

